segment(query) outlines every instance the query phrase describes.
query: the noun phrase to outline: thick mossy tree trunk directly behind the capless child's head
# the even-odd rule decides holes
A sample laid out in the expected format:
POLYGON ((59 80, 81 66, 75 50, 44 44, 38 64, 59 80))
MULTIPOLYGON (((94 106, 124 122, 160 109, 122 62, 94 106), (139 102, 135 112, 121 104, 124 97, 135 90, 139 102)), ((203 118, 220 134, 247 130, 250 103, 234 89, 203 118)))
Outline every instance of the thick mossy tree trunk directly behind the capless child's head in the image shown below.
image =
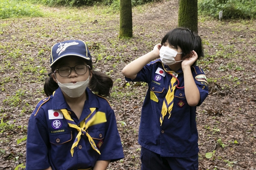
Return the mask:
POLYGON ((198 0, 179 0, 178 26, 198 32, 198 0))

